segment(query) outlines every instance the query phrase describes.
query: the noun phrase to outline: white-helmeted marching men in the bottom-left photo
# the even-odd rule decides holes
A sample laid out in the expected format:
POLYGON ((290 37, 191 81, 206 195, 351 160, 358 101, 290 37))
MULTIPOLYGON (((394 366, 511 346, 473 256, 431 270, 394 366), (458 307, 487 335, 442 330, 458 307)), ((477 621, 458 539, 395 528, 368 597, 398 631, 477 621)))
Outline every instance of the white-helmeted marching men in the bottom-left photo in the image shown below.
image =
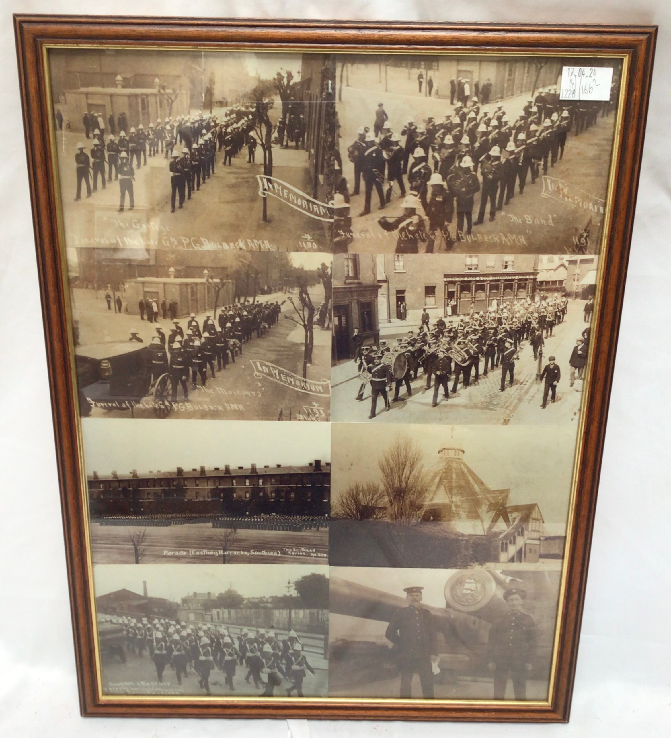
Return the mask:
POLYGON ((210 623, 194 626, 171 618, 101 615, 99 621, 123 627, 126 652, 138 658, 147 652, 160 683, 168 667, 177 684, 194 674, 198 686, 211 694, 210 677, 217 669, 224 674, 228 691, 235 692, 234 677, 242 667, 240 674, 248 670, 245 682, 253 680, 256 689, 263 690, 263 697, 273 697, 283 683, 289 685, 285 687, 287 696, 296 692, 297 697, 303 697, 305 677, 316 675, 294 630, 284 636, 273 629, 243 627, 236 635, 231 627, 210 623))

